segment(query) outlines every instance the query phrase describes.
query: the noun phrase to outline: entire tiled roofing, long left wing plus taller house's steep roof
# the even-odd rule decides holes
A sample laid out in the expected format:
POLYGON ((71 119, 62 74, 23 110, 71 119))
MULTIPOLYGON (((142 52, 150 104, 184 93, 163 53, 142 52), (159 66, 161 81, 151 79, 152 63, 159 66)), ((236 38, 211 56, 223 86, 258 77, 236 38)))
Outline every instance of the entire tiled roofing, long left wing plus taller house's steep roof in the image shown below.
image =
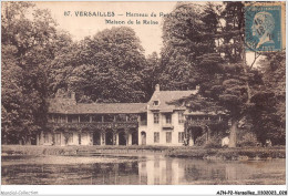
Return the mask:
POLYGON ((173 102, 196 94, 194 91, 155 91, 148 103, 76 103, 72 99, 49 100, 49 113, 63 114, 136 114, 144 113, 146 109, 161 112, 173 112, 174 110, 186 110, 184 105, 173 102), (153 105, 158 101, 158 105, 153 105))

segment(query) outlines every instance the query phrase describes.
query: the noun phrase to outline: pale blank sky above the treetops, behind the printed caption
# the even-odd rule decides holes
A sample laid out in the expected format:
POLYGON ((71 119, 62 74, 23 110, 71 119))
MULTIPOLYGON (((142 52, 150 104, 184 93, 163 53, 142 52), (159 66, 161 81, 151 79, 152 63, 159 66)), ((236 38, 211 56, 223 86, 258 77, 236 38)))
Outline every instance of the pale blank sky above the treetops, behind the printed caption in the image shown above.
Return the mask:
MULTIPOLYGON (((52 18, 59 23, 59 29, 70 32, 74 41, 82 40, 84 37, 94 35, 104 29, 112 27, 121 27, 123 24, 106 23, 105 20, 125 21, 124 25, 134 29, 140 38, 145 55, 152 54, 154 51, 160 53, 162 48, 162 23, 161 13, 169 13, 176 6, 175 1, 165 2, 34 2, 38 8, 49 9, 52 18), (84 12, 114 12, 115 17, 84 17, 84 12), (69 14, 68 14, 69 13, 69 14), (131 17, 131 14, 147 14, 148 17, 131 17), (151 17, 154 13, 155 17, 151 17), (82 17, 80 17, 82 14, 82 17), (76 17, 78 16, 78 17, 76 17), (128 20, 133 24, 127 24, 128 20), (136 24, 136 20, 142 24, 136 24), (143 20, 157 22, 157 24, 143 24, 143 20)), ((205 3, 205 2, 197 2, 205 3)), ((254 61, 254 53, 246 54, 247 63, 254 61)), ((260 58, 257 60, 258 64, 260 58)))

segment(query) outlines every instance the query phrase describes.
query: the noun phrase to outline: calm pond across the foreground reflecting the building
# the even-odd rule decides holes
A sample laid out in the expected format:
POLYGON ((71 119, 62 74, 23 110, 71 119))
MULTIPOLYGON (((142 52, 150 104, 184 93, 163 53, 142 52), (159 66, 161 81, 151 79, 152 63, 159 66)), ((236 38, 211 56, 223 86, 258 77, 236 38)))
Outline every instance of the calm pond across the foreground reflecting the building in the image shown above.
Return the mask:
POLYGON ((286 164, 162 155, 2 156, 1 172, 3 185, 284 185, 286 164))

